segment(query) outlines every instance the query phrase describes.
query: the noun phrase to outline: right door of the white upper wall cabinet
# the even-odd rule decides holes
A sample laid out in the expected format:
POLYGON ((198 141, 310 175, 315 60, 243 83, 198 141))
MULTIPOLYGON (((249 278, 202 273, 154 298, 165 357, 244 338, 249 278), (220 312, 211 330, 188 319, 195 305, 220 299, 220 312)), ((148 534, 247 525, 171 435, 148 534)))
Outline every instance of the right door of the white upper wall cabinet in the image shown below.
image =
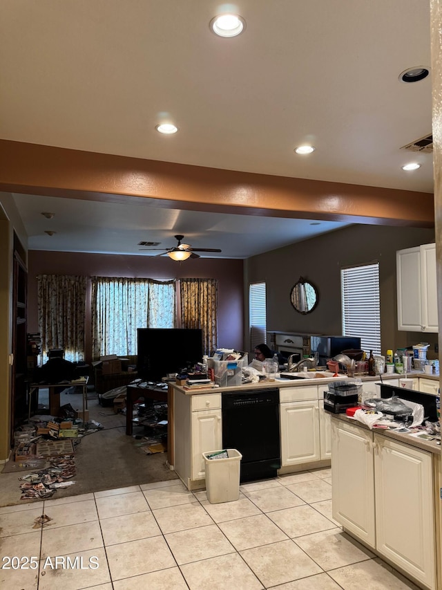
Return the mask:
POLYGON ((439 331, 437 319, 436 244, 421 246, 422 324, 424 332, 439 331))

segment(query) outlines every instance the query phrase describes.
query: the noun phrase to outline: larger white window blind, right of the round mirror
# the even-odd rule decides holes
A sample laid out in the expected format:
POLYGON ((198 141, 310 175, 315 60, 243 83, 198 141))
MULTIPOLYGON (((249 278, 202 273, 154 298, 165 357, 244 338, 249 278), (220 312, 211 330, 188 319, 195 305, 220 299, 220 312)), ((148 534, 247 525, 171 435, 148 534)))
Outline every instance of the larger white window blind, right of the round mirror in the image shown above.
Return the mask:
POLYGON ((381 305, 379 264, 365 264, 340 271, 343 335, 360 336, 361 349, 381 354, 381 305))

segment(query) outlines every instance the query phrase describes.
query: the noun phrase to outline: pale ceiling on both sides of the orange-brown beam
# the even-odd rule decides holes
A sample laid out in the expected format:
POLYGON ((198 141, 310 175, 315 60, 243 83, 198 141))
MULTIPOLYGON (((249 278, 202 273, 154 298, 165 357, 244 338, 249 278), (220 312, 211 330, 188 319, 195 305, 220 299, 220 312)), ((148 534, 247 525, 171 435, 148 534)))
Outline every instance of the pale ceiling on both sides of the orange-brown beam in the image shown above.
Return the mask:
MULTIPOLYGON (((432 154, 401 150, 431 133, 431 80, 398 81, 430 67, 429 12, 425 0, 3 0, 0 137, 432 192, 432 154), (209 30, 222 6, 244 17, 239 37, 209 30), (178 133, 157 133, 163 121, 178 133), (296 156, 305 142, 316 151, 296 156), (421 168, 405 173, 410 160, 421 168)), ((138 241, 166 248, 182 233, 242 258, 343 225, 16 199, 39 250, 145 254, 138 241)))

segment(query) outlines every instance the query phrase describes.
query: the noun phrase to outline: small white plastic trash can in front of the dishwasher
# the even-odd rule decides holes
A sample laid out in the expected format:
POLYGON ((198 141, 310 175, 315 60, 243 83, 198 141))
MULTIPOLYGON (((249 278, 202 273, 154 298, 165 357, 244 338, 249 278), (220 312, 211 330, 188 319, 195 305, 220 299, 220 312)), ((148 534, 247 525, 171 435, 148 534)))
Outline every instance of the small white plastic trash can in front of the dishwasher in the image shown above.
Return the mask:
POLYGON ((206 468, 206 493, 211 504, 231 502, 240 497, 240 467, 242 454, 236 449, 226 449, 224 459, 209 459, 215 453, 203 453, 206 468))

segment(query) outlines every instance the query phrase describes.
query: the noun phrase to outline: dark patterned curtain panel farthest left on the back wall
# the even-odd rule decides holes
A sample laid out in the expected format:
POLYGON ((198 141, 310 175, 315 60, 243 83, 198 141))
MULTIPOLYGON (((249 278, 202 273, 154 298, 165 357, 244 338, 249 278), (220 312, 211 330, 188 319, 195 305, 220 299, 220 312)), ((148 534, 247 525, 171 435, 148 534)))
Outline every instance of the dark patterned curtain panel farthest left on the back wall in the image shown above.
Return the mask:
POLYGON ((64 349, 64 358, 84 360, 86 277, 38 275, 38 315, 43 362, 48 349, 64 349))

